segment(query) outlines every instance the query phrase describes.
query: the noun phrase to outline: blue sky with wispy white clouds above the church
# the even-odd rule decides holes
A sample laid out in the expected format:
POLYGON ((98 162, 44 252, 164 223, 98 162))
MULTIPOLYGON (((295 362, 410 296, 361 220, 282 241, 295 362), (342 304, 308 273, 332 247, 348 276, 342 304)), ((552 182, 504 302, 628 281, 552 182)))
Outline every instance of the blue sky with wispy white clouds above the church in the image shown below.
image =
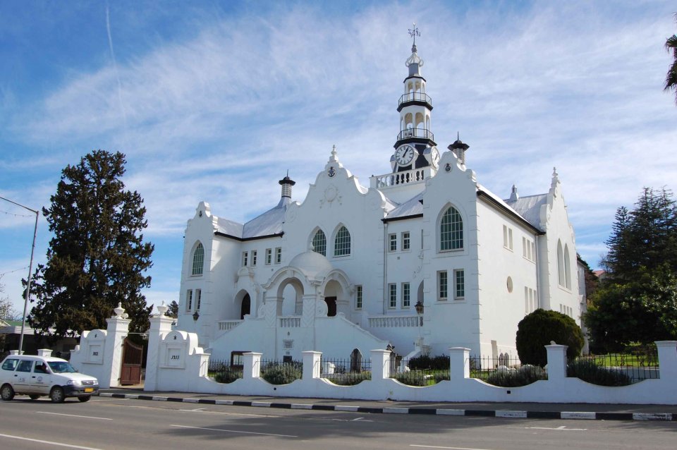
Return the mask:
MULTIPOLYGON (((0 195, 49 205, 61 169, 127 155, 155 245, 149 303, 178 300, 185 221, 255 217, 287 169, 307 186, 336 145, 363 186, 389 171, 417 23, 445 149, 508 197, 557 167, 597 267, 621 205, 675 188, 677 107, 662 92, 673 1, 0 2, 0 195)), ((34 216, 33 216, 34 217, 34 216)), ((0 202, 0 283, 17 309, 33 218, 0 202), (28 217, 27 217, 28 216, 28 217)), ((41 216, 36 262, 49 243, 41 216)))

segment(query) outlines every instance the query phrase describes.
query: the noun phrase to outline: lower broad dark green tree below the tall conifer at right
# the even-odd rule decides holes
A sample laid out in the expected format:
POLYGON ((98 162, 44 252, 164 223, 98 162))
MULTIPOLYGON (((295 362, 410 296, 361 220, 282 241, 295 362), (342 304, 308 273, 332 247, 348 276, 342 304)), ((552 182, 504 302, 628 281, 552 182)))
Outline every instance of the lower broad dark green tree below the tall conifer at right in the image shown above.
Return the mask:
POLYGON ((597 352, 677 339, 677 276, 666 264, 642 267, 628 283, 604 284, 593 294, 584 320, 597 352))

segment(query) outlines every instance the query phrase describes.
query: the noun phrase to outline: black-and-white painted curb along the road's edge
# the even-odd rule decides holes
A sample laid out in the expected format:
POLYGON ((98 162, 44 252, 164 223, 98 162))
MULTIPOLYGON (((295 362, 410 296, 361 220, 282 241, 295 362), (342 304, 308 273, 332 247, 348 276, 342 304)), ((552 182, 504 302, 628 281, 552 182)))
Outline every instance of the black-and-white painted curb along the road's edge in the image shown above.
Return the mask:
POLYGON ((517 419, 563 419, 563 420, 659 420, 677 421, 673 413, 592 413, 575 411, 513 411, 487 409, 444 409, 444 408, 369 408, 366 406, 316 405, 312 403, 274 403, 267 401, 239 401, 214 399, 184 399, 183 397, 164 397, 140 394, 99 393, 101 397, 113 399, 133 399, 150 401, 174 401, 178 403, 199 403, 202 405, 251 406, 253 408, 307 409, 312 411, 344 411, 368 414, 423 414, 458 415, 466 417, 496 417, 517 419))

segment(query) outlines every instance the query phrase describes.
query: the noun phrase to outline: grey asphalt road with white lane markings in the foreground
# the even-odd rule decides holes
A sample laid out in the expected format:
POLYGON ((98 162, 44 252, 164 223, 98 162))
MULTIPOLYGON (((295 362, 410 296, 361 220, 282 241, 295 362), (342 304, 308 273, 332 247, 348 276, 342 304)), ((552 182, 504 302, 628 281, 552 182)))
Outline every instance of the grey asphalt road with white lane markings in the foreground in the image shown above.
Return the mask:
POLYGON ((363 414, 94 398, 0 402, 0 449, 670 449, 677 422, 363 414))

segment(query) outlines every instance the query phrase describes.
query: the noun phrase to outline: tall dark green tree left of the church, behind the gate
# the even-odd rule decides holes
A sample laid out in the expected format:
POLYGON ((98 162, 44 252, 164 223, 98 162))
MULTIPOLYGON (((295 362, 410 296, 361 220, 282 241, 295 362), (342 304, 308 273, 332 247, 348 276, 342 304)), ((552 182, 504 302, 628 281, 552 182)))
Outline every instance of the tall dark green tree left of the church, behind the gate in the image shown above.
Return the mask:
POLYGON ((147 329, 152 306, 140 291, 150 286, 143 273, 152 266, 153 245, 141 233, 143 200, 121 181, 125 163, 120 152, 87 154, 63 169, 51 206, 42 209, 54 237, 31 286, 37 304, 28 320, 39 334, 50 327, 56 336, 104 328, 118 303, 131 331, 147 329))

